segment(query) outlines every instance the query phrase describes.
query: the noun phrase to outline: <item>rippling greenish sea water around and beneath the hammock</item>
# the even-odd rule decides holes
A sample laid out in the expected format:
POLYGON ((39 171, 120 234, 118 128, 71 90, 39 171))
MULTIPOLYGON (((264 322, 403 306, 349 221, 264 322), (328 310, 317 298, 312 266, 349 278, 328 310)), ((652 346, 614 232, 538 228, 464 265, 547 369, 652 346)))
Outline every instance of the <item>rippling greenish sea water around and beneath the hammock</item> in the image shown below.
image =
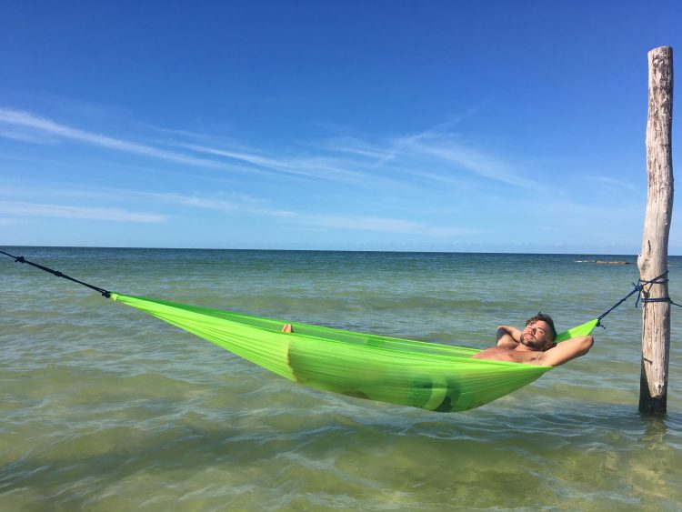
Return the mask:
MULTIPOLYGON (((538 310, 595 318, 638 277, 635 256, 0 248, 127 295, 475 348, 538 310)), ((297 385, 0 255, 0 509, 679 510, 682 309, 665 417, 637 414, 635 296, 604 323, 587 356, 442 414, 297 385)))

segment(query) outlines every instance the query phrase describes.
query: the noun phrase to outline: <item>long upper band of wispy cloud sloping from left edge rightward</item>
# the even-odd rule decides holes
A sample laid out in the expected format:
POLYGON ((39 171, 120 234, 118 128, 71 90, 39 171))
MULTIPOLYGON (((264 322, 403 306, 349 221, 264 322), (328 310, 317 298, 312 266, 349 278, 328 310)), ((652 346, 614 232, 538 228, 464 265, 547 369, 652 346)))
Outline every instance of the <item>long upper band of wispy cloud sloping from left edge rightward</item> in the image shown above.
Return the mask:
MULTIPOLYGON (((182 130, 154 128, 176 140, 164 147, 86 132, 31 113, 0 108, 0 136, 25 142, 77 141, 123 153, 237 173, 296 176, 346 183, 361 188, 405 186, 406 179, 428 184, 461 186, 470 176, 505 185, 538 190, 536 182, 497 156, 476 149, 453 132, 457 121, 435 125, 421 133, 397 136, 379 142, 345 136, 312 141, 296 153, 249 148, 236 141, 182 130), (7 128, 11 129, 7 129, 7 128), (467 178, 467 175, 469 176, 467 178)), ((294 145, 296 148, 296 145, 294 145)))

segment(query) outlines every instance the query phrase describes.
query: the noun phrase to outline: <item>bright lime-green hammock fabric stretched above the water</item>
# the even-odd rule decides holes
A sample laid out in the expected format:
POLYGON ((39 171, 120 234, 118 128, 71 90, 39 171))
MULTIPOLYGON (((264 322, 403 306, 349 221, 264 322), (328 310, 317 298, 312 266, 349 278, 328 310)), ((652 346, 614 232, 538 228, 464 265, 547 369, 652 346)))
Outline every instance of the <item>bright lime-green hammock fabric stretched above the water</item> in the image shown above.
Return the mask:
MULTIPOLYGON (((472 359, 478 350, 112 293, 133 306, 309 387, 430 411, 480 407, 536 380, 552 366, 472 359)), ((557 336, 586 336, 591 320, 557 336)))

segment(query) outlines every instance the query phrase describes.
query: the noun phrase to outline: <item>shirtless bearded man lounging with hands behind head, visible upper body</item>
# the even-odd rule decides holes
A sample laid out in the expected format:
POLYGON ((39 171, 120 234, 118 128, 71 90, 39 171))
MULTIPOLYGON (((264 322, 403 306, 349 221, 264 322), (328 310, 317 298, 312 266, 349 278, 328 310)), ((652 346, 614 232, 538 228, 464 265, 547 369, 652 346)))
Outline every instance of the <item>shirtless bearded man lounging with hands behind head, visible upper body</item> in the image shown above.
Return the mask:
POLYGON ((592 336, 577 336, 554 343, 557 331, 551 316, 538 313, 529 318, 523 331, 512 326, 497 327, 497 346, 481 350, 475 359, 559 366, 585 356, 595 343, 592 336))

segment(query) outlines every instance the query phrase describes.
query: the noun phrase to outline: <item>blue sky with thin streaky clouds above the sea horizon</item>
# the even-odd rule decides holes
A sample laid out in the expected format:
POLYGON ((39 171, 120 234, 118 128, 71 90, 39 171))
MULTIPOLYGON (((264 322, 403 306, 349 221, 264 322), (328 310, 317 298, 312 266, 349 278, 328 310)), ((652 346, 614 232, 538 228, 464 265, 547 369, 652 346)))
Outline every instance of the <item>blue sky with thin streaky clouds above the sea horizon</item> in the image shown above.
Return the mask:
POLYGON ((636 255, 647 52, 680 26, 670 0, 0 0, 0 246, 636 255))

